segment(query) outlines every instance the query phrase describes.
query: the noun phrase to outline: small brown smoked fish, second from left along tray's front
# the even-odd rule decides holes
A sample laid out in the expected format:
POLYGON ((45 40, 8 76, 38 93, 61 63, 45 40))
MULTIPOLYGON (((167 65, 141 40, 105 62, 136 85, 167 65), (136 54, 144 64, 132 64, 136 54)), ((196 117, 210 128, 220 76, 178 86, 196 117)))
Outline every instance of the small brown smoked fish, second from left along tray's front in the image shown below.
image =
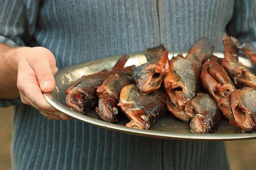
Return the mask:
POLYGON ((96 107, 96 112, 100 118, 111 123, 118 121, 116 116, 120 112, 117 106, 120 92, 123 87, 132 83, 132 77, 122 74, 111 75, 104 80, 97 88, 99 107, 96 107))

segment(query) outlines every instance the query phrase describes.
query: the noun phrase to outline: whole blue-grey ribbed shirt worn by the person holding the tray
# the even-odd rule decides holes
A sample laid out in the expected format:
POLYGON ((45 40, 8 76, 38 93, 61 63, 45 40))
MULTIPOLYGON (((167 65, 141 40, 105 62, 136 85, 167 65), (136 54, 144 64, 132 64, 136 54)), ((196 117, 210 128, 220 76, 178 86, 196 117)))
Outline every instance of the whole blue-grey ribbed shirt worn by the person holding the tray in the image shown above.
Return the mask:
MULTIPOLYGON (((208 37, 223 51, 228 33, 255 41, 255 0, 0 0, 0 42, 44 46, 58 69, 144 52, 162 43, 188 50, 208 37), (233 10, 235 10, 233 12, 233 10), (230 22, 231 21, 231 22, 230 22)), ((253 42, 254 43, 254 42, 253 42)), ((48 120, 19 99, 14 110, 14 170, 227 170, 224 142, 151 139, 76 119, 48 120)))

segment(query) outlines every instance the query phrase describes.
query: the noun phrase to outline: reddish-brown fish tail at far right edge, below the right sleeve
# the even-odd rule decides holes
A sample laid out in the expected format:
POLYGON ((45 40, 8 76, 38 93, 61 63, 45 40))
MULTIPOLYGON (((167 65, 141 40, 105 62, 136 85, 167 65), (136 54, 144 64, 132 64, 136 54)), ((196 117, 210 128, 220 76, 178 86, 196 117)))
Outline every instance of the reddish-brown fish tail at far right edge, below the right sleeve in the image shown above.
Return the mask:
POLYGON ((230 37, 230 39, 235 43, 236 47, 241 49, 253 64, 256 65, 256 51, 253 45, 246 40, 244 40, 243 43, 239 43, 235 37, 230 37))

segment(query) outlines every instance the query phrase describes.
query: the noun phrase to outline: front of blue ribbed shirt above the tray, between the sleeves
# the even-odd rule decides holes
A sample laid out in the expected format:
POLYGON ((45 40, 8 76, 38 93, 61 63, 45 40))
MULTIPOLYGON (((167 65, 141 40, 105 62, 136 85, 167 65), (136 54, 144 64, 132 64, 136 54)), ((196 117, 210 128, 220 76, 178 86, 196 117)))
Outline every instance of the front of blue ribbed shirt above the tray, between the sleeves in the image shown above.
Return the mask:
POLYGON ((221 37, 234 0, 49 0, 39 8, 37 45, 51 50, 57 67, 101 57, 144 52, 163 44, 189 50, 208 37, 223 51, 221 37))

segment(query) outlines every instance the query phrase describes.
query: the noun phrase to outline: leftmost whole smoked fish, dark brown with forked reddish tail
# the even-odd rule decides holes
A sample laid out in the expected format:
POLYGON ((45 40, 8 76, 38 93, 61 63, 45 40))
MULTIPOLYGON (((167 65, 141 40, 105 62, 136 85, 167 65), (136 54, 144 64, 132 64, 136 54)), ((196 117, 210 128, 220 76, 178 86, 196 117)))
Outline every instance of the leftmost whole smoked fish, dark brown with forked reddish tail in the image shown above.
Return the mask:
POLYGON ((84 114, 89 108, 96 106, 98 103, 97 87, 102 85, 106 78, 113 74, 132 76, 135 65, 124 68, 128 59, 128 55, 123 55, 111 71, 104 69, 98 73, 83 76, 74 82, 65 92, 67 95, 65 99, 67 108, 84 114))

